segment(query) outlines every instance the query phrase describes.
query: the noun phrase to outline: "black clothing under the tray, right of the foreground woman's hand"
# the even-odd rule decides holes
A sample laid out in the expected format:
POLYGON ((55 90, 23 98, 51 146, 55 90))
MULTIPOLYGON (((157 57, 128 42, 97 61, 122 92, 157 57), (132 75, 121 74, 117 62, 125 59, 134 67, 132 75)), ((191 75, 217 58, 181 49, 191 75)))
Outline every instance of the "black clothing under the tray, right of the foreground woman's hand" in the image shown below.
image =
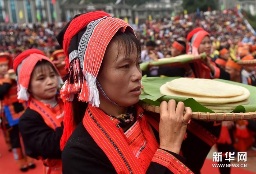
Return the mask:
MULTIPOLYGON (((219 138, 221 125, 214 126, 214 122, 206 122, 201 120, 193 121, 204 127, 215 137, 219 138)), ((181 151, 183 157, 186 158, 186 166, 195 174, 200 174, 204 160, 206 159, 210 150, 211 146, 187 130, 187 138, 182 142, 181 151)))

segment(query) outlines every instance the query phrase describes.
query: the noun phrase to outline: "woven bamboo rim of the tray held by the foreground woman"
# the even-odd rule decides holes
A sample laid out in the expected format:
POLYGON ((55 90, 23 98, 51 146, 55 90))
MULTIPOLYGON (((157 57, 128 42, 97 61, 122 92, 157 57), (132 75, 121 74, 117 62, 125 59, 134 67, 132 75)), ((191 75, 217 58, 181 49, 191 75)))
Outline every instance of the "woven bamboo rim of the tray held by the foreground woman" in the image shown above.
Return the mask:
MULTIPOLYGON (((152 104, 147 104, 140 101, 139 105, 146 111, 160 113, 160 107, 152 104)), ((185 114, 186 112, 184 112, 185 114)), ((210 112, 192 112, 191 119, 210 120, 210 121, 233 121, 233 120, 250 120, 256 118, 256 112, 245 113, 210 113, 210 112)))

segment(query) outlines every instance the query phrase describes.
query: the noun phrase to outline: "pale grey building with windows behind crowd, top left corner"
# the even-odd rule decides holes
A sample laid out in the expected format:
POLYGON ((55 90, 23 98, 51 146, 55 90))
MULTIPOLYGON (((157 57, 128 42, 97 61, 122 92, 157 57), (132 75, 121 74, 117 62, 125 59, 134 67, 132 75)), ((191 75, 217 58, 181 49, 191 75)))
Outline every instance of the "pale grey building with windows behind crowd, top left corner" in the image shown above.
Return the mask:
POLYGON ((58 0, 0 0, 0 23, 61 21, 58 0))

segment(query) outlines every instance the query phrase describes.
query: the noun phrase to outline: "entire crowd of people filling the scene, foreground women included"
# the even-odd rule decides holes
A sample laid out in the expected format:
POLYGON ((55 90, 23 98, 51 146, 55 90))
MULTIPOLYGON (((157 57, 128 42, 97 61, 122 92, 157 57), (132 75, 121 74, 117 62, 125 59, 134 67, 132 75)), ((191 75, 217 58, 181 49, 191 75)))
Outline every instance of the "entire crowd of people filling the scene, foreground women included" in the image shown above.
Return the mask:
POLYGON ((170 100, 157 121, 138 104, 143 75, 256 86, 256 67, 236 63, 256 51, 236 10, 147 20, 135 29, 97 11, 68 23, 0 24, 0 31, 1 127, 21 171, 40 159, 45 174, 200 173, 215 144, 223 153, 256 150, 255 120, 190 120, 191 108, 170 100), (141 62, 202 53, 206 59, 183 66, 140 69, 141 62), (223 127, 248 134, 227 143, 218 140, 223 127))

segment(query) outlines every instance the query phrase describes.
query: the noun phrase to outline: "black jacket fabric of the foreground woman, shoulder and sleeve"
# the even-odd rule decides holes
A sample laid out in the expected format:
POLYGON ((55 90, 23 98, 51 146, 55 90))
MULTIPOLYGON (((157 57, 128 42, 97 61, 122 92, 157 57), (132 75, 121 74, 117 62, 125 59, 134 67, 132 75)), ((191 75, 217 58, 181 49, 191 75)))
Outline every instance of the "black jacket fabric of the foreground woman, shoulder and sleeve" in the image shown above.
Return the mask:
MULTIPOLYGON (((172 152, 169 153, 174 155, 182 163, 185 162, 185 159, 180 155, 172 152)), ((63 174, 116 173, 114 166, 102 149, 93 140, 82 122, 76 127, 63 149, 62 164, 63 174)), ((172 172, 165 166, 151 162, 147 174, 156 173, 170 174, 172 172)))

